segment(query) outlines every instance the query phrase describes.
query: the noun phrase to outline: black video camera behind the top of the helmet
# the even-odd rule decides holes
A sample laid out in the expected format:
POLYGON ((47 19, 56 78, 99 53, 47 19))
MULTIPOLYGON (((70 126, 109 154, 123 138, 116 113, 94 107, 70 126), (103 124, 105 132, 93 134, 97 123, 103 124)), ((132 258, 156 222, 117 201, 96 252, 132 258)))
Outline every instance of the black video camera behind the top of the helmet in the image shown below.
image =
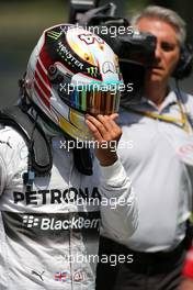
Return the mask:
POLYGON ((98 4, 99 1, 95 0, 71 0, 69 23, 89 27, 94 33, 98 31, 120 59, 149 65, 155 56, 156 37, 148 33, 135 33, 126 19, 115 16, 114 3, 102 7, 98 4), (116 29, 113 35, 112 27, 114 31, 116 29))

